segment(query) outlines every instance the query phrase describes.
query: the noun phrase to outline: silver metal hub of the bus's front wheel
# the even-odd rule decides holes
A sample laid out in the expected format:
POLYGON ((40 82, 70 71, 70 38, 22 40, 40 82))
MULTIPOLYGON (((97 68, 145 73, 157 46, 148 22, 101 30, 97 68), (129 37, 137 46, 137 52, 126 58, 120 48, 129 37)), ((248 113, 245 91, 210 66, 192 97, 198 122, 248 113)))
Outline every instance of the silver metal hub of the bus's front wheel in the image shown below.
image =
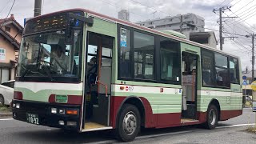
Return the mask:
POLYGON ((126 134, 131 135, 134 134, 134 131, 137 128, 137 121, 134 112, 128 112, 123 118, 122 121, 122 129, 126 132, 126 134))

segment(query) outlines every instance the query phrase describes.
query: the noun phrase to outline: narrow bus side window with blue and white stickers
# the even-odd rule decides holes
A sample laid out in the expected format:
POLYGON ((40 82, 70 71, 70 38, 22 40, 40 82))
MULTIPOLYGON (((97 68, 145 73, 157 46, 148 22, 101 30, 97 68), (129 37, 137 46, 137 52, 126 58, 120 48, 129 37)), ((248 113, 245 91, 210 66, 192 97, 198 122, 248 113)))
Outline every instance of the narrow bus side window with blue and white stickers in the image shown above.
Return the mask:
POLYGON ((120 54, 119 54, 119 66, 118 66, 118 74, 120 78, 131 78, 130 74, 130 30, 125 28, 120 28, 120 54))

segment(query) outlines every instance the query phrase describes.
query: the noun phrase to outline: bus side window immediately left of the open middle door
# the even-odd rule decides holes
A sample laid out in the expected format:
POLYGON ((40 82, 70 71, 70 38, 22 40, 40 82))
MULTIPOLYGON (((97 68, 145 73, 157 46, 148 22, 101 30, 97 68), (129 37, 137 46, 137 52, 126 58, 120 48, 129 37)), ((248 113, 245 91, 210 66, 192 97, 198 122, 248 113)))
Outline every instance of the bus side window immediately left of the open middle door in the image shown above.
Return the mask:
POLYGON ((181 56, 179 42, 160 38, 161 80, 172 83, 181 81, 181 56))

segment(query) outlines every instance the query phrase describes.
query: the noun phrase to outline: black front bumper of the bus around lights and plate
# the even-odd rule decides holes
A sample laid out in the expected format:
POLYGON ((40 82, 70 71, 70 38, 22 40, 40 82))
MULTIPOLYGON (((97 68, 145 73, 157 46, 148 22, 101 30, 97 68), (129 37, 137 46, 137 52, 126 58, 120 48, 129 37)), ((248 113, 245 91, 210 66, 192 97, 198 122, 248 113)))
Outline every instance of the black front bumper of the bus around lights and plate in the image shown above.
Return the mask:
POLYGON ((80 125, 80 105, 66 105, 48 102, 29 102, 24 100, 13 100, 13 118, 19 121, 27 122, 26 114, 38 114, 39 125, 58 127, 69 130, 79 130, 80 125), (19 108, 14 107, 19 104, 19 108), (51 113, 51 108, 57 109, 57 114, 51 113), (77 115, 59 114, 58 110, 78 110, 77 115), (60 125, 63 121, 64 125, 60 125), (76 126, 67 126, 67 122, 76 122, 76 126))

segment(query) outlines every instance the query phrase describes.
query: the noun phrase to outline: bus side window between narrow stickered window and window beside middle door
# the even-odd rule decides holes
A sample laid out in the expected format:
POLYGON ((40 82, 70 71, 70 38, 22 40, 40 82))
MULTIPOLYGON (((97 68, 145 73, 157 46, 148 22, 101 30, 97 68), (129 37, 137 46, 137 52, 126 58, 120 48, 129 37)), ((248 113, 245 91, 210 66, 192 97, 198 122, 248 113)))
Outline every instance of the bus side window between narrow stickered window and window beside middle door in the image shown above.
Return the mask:
POLYGON ((154 79, 154 36, 134 31, 134 78, 154 79))

